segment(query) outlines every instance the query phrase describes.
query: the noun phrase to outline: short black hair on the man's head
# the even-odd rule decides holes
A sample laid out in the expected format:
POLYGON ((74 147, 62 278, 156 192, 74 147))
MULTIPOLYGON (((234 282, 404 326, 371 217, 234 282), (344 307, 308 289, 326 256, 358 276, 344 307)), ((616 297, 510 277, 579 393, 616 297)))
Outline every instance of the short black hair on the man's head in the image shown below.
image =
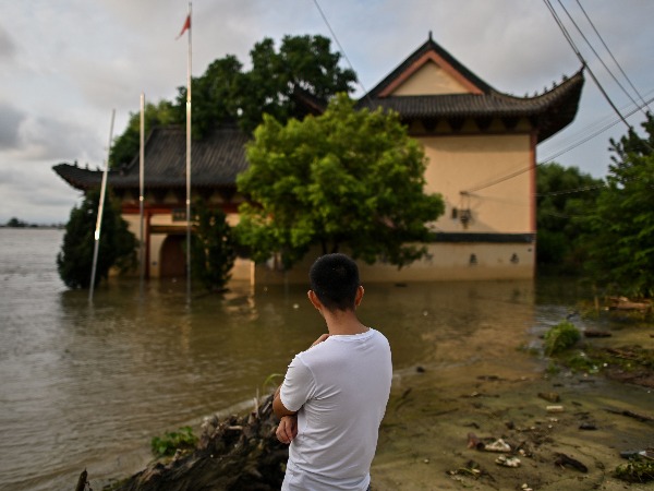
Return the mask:
POLYGON ((326 254, 308 272, 311 289, 328 310, 354 310, 359 267, 346 254, 326 254))

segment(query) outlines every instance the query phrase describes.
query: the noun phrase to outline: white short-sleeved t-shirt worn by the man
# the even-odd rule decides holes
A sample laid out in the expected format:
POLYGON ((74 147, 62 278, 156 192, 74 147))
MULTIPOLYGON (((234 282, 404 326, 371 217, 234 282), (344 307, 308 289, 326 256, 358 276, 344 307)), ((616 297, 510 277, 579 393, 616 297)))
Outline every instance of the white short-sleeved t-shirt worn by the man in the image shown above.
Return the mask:
POLYGON ((365 490, 392 364, 375 330, 329 336, 298 354, 281 385, 283 406, 298 411, 282 491, 365 490))

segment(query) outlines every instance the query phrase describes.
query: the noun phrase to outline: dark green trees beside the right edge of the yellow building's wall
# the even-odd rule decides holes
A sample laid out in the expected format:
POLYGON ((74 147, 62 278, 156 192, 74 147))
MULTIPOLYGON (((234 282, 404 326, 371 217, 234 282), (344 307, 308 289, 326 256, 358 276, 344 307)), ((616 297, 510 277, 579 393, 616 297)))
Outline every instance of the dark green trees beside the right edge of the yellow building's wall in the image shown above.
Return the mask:
POLYGON ((588 221, 578 220, 595 207, 603 185, 577 167, 542 164, 536 177, 536 260, 540 267, 579 273, 586 256, 588 221))

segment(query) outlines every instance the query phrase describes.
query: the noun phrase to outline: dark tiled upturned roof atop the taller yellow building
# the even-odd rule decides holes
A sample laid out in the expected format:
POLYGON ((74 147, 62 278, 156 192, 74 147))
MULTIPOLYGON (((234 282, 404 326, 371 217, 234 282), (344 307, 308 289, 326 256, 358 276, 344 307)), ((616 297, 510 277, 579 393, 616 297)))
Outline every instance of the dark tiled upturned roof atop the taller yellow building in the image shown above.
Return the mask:
POLYGON ((429 36, 424 45, 364 95, 359 100, 358 107, 370 109, 382 107, 393 110, 404 121, 461 120, 465 118, 518 119, 524 117, 536 128, 538 142, 542 142, 574 119, 583 83, 582 69, 570 79, 564 80, 559 85, 538 96, 514 97, 504 94, 472 73, 429 36), (444 95, 388 95, 407 73, 429 55, 434 55, 449 64, 471 92, 444 95))

